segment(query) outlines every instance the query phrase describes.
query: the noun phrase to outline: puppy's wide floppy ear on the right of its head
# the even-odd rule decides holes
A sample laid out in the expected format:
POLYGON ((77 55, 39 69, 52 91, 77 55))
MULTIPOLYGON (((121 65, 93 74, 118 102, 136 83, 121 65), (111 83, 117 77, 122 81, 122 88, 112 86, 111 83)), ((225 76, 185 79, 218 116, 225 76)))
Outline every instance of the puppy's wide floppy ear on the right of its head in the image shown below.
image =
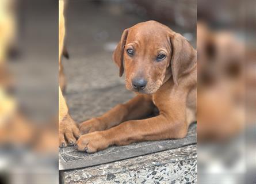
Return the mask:
POLYGON ((178 78, 188 74, 196 65, 196 50, 189 44, 181 34, 174 33, 170 36, 171 42, 171 73, 175 85, 178 85, 178 78))

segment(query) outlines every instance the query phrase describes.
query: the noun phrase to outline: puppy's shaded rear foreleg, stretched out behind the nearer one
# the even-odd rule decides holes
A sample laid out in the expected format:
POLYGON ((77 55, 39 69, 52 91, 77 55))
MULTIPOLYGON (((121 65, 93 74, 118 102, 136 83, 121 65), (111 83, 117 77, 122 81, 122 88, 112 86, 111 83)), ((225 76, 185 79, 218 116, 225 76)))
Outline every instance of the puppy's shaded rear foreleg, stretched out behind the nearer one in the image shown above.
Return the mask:
POLYGON ((85 133, 104 131, 121 122, 146 117, 154 109, 151 96, 137 95, 125 104, 119 104, 100 117, 82 122, 79 129, 85 133))

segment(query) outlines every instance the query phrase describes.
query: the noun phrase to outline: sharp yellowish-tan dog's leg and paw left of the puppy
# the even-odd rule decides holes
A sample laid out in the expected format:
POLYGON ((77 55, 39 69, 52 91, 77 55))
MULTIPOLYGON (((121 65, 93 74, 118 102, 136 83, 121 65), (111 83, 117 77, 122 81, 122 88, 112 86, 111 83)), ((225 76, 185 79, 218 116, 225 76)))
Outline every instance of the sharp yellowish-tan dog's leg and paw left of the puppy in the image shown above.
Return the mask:
POLYGON ((65 86, 63 66, 61 57, 64 48, 65 20, 64 20, 64 1, 59 1, 59 146, 66 147, 67 143, 72 145, 76 143, 79 137, 79 129, 75 121, 68 114, 68 107, 62 95, 62 89, 65 86), (65 140, 66 137, 66 140, 65 140))

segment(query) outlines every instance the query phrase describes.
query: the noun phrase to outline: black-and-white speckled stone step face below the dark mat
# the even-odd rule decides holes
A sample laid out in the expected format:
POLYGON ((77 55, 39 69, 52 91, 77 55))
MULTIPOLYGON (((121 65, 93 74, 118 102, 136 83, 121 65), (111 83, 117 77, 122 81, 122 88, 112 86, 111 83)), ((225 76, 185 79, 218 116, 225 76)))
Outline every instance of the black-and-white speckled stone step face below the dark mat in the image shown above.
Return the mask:
POLYGON ((197 183, 196 145, 65 171, 64 183, 197 183))

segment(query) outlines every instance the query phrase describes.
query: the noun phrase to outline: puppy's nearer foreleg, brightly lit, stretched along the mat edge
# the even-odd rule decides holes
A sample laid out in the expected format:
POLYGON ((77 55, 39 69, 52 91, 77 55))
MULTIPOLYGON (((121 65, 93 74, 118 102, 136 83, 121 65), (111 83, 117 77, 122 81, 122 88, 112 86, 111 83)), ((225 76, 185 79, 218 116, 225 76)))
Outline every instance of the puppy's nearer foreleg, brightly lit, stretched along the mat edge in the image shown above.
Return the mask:
POLYGON ((146 120, 126 121, 106 131, 82 135, 78 150, 96 152, 109 145, 127 145, 137 141, 181 139, 188 132, 186 121, 177 121, 163 114, 146 120))

